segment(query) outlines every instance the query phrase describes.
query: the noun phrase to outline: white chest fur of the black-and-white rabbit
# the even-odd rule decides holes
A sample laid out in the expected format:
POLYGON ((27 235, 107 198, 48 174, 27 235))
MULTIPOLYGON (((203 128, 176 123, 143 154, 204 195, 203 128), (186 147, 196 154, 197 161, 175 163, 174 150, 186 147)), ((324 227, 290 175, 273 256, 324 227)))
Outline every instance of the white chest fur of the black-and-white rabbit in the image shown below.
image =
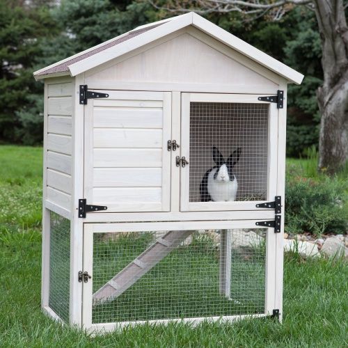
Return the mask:
POLYGON ((214 180, 214 174, 217 169, 213 169, 208 175, 208 192, 214 202, 227 202, 236 199, 237 195, 237 179, 228 182, 214 180))

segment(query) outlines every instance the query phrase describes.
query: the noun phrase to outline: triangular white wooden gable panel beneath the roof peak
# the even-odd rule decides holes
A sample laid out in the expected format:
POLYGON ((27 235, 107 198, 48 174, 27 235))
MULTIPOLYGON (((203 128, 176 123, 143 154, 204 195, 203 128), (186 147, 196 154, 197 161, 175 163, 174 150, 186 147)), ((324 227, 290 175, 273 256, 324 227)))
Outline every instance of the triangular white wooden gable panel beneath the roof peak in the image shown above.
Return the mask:
POLYGON ((279 76, 188 27, 86 74, 88 88, 274 93, 279 76))

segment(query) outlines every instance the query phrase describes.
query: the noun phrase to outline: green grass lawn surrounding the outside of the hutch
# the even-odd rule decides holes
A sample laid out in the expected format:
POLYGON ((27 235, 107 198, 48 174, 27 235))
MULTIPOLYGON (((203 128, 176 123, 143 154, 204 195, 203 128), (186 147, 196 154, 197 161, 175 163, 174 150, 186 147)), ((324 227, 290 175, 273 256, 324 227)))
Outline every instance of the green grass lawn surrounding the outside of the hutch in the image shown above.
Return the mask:
POLYGON ((145 325, 91 338, 52 322, 40 311, 41 157, 0 146, 0 347, 347 347, 347 264, 296 254, 285 257, 283 324, 145 325))

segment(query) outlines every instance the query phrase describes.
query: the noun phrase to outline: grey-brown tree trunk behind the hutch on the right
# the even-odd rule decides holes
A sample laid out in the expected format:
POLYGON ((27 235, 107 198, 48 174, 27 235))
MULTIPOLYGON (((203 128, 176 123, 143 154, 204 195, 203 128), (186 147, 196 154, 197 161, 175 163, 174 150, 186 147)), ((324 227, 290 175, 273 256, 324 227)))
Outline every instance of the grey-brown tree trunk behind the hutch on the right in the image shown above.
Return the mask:
POLYGON ((333 174, 348 160, 348 28, 342 0, 315 0, 315 13, 324 70, 324 84, 317 90, 319 170, 333 174))

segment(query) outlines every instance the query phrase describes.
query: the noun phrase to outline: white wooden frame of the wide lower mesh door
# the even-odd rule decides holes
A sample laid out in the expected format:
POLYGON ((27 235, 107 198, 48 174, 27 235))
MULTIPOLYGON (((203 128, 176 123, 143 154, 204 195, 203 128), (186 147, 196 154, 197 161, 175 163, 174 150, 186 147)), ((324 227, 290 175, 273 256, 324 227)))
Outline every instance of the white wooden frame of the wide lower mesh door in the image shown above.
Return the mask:
MULTIPOLYGON (((82 297, 82 325, 90 333, 103 333, 122 329, 125 326, 136 324, 168 324, 171 322, 187 322, 199 324, 203 321, 216 322, 218 320, 234 322, 245 317, 265 317, 271 315, 276 301, 276 233, 273 228, 267 228, 266 248, 266 278, 265 278, 265 306, 264 313, 258 315, 230 315, 223 317, 193 317, 184 319, 161 319, 150 321, 118 322, 92 324, 93 298, 93 234, 104 232, 141 232, 146 230, 201 230, 201 229, 232 229, 258 228, 255 221, 182 221, 182 222, 155 222, 155 223, 85 223, 84 224, 84 271, 92 277, 84 283, 82 297)), ((262 228, 262 227, 261 227, 262 228)))

